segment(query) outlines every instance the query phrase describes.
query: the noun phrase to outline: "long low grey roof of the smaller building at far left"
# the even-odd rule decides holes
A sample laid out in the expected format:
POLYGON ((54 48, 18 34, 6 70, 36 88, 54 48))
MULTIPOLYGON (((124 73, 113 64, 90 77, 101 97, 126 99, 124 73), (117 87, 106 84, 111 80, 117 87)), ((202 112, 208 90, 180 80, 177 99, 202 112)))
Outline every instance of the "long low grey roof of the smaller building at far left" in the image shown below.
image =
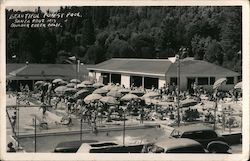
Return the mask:
MULTIPOLYGON (((6 75, 10 80, 41 80, 75 78, 76 65, 72 64, 7 64, 6 75)), ((87 75, 85 66, 80 66, 79 76, 87 75)))

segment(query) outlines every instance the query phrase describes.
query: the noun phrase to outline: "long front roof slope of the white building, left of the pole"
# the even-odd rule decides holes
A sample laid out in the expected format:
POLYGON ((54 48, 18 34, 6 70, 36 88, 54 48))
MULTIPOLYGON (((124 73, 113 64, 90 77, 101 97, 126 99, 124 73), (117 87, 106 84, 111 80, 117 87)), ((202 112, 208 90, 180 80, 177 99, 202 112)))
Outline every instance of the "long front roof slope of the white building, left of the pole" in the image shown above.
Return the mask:
POLYGON ((168 59, 120 59, 113 58, 99 63, 89 70, 129 73, 136 75, 165 76, 171 62, 168 59))

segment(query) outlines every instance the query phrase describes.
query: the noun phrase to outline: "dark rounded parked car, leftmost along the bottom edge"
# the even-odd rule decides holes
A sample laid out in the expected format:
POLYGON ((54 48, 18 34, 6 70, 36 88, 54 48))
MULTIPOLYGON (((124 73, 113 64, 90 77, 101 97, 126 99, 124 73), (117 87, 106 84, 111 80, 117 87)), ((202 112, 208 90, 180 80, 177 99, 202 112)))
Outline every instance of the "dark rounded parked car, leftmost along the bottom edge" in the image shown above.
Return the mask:
POLYGON ((55 153, 76 153, 79 147, 83 143, 94 143, 97 142, 97 140, 82 140, 82 141, 66 141, 59 143, 55 149, 55 153))

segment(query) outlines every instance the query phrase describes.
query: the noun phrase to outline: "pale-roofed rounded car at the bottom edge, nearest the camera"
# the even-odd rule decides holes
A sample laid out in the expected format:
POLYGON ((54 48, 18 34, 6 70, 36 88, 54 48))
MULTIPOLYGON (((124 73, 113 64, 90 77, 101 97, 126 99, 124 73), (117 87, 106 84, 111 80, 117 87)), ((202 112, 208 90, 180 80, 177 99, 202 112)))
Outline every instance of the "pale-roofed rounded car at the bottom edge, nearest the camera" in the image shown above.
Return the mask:
POLYGON ((145 144, 143 153, 206 153, 203 146, 192 139, 172 138, 145 144))

